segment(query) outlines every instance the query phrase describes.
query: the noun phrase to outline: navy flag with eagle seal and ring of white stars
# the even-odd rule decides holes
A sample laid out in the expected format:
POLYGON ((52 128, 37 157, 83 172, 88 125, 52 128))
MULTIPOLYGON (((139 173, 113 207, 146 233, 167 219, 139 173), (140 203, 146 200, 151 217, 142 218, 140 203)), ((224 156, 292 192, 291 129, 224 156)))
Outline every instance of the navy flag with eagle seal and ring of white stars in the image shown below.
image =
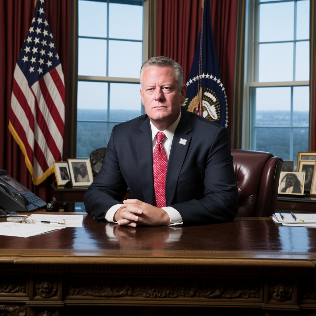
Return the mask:
POLYGON ((182 106, 187 111, 228 126, 228 104, 213 39, 210 0, 204 2, 202 27, 186 86, 182 106))

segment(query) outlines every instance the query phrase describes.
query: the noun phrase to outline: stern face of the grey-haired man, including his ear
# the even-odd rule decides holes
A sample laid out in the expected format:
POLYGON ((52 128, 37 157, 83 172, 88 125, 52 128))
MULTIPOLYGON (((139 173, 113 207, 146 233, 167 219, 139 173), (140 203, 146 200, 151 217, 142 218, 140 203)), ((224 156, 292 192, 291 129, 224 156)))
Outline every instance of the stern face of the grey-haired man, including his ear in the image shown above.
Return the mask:
POLYGON ((171 66, 148 66, 143 72, 143 90, 140 91, 145 111, 153 120, 164 120, 180 114, 181 103, 185 100, 186 86, 181 96, 174 69, 171 66))

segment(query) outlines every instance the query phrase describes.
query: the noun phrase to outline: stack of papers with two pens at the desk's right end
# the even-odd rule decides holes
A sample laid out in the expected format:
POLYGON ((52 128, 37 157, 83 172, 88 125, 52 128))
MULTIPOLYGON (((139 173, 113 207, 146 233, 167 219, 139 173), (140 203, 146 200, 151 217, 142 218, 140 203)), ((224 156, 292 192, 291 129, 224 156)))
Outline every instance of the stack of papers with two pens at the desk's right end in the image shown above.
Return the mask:
POLYGON ((301 226, 301 227, 315 227, 316 228, 316 214, 306 213, 275 213, 271 216, 273 222, 282 224, 283 226, 301 226), (284 220, 282 219, 282 216, 284 220), (296 218, 296 221, 294 219, 296 218))

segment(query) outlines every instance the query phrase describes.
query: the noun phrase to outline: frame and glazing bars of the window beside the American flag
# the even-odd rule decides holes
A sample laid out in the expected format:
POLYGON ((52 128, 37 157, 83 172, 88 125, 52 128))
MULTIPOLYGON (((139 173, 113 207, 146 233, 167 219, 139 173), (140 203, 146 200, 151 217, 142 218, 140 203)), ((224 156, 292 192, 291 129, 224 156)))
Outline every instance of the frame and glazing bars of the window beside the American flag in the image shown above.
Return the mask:
MULTIPOLYGON (((76 41, 78 43, 79 38, 85 38, 85 39, 99 39, 99 40, 106 40, 106 75, 107 76, 82 76, 78 75, 78 54, 79 54, 79 49, 77 49, 77 67, 76 67, 76 95, 78 94, 78 82, 83 81, 83 82, 107 82, 107 119, 106 120, 82 120, 77 118, 77 98, 76 98, 76 121, 75 121, 75 129, 76 129, 76 134, 77 134, 77 123, 78 122, 93 122, 93 123, 106 123, 107 126, 107 143, 109 141, 109 137, 111 135, 110 131, 110 124, 111 123, 122 123, 124 121, 112 121, 110 120, 110 84, 111 83, 132 83, 132 84, 140 84, 139 78, 122 78, 122 77, 109 77, 108 76, 108 61, 109 61, 109 41, 110 40, 119 40, 119 41, 128 41, 128 42, 142 42, 143 44, 143 50, 142 50, 142 62, 146 61, 148 59, 148 33, 149 33, 149 8, 148 8, 148 1, 149 0, 143 0, 143 40, 128 40, 128 39, 117 39, 117 38, 110 38, 109 37, 109 5, 110 5, 110 0, 104 1, 107 3, 107 37, 94 37, 94 36, 80 36, 79 33, 77 32, 76 34, 76 41)), ((77 8, 79 6, 79 0, 77 0, 77 8)), ((76 12, 77 14, 77 21, 79 23, 79 16, 78 16, 78 10, 76 12)), ((141 114, 145 114, 145 108, 143 104, 141 104, 141 114)), ((75 157, 76 158, 87 158, 87 157, 77 157, 76 152, 77 152, 77 139, 75 140, 76 143, 76 149, 75 149, 75 157)))

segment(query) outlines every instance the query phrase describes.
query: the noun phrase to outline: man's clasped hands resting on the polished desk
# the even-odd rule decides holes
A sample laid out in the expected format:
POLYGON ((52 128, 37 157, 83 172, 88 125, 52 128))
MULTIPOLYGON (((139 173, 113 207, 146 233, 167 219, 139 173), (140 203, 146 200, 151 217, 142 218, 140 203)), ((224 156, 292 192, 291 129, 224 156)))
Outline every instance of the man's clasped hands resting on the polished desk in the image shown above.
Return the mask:
POLYGON ((118 225, 136 227, 137 225, 160 226, 169 225, 170 217, 168 213, 137 199, 128 199, 114 214, 113 220, 118 225))

